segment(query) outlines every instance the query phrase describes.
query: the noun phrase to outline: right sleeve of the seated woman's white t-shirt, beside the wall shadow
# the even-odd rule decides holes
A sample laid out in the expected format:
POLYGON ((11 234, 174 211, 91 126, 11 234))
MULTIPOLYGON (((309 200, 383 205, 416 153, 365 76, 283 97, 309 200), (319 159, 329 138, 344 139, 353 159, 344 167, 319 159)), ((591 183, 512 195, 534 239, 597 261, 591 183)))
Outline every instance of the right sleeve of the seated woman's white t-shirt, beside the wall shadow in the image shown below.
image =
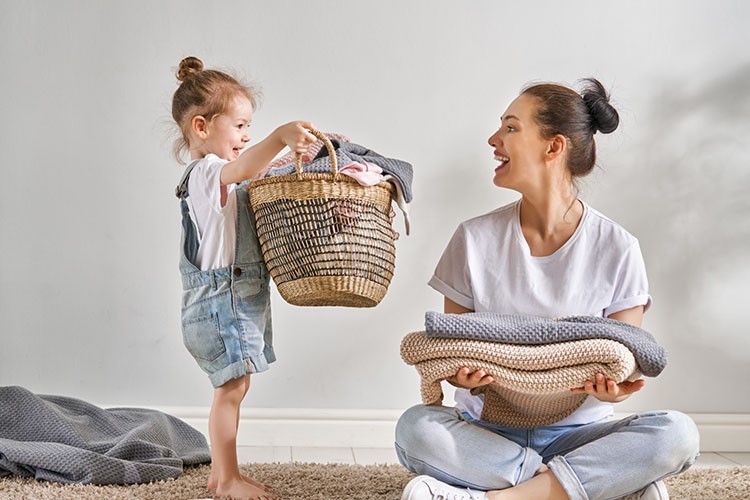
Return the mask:
POLYGON ((646 312, 651 307, 651 296, 648 293, 646 264, 636 241, 620 261, 612 303, 604 310, 604 316, 637 306, 644 306, 643 310, 646 312))

